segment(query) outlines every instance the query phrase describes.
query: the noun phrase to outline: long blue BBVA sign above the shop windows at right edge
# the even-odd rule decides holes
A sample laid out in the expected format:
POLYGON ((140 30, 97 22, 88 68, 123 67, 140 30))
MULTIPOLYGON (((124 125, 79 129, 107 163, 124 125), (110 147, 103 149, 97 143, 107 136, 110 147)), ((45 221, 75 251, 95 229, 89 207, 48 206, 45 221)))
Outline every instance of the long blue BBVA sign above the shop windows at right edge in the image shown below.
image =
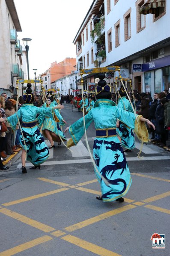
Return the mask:
POLYGON ((166 56, 160 59, 155 59, 152 62, 142 64, 142 71, 149 71, 152 69, 163 68, 170 66, 170 56, 166 56))

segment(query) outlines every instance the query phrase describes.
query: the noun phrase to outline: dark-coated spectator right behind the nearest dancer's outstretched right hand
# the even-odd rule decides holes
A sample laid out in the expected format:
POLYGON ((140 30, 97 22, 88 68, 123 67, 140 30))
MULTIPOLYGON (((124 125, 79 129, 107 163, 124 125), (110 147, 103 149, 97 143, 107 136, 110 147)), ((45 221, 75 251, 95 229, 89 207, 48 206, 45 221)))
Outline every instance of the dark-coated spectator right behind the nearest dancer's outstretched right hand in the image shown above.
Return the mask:
MULTIPOLYGON (((153 102, 151 103, 151 106, 149 108, 149 120, 152 120, 151 122, 156 125, 156 117, 155 117, 155 112, 156 108, 158 106, 158 93, 154 93, 153 96, 153 102)), ((155 133, 155 130, 152 129, 152 137, 151 140, 156 141, 157 140, 157 134, 155 133)))

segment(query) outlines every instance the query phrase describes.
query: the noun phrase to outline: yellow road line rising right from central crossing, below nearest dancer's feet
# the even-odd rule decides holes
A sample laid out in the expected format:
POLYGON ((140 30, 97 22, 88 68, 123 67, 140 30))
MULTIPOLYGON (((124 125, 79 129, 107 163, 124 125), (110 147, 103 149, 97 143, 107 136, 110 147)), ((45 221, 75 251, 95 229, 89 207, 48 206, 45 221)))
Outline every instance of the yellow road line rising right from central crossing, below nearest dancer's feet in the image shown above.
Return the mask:
POLYGON ((64 229, 65 229, 66 231, 72 232, 72 231, 78 230, 78 229, 80 229, 80 228, 84 228, 84 227, 86 227, 86 226, 88 226, 88 225, 91 225, 91 224, 93 224, 93 223, 95 223, 95 222, 101 221, 102 219, 107 219, 107 218, 109 218, 109 217, 111 217, 111 216, 114 216, 114 215, 116 215, 116 214, 118 214, 118 213, 123 213, 123 212, 125 212, 125 211, 127 211, 127 210, 134 209, 135 207, 136 207, 136 206, 134 206, 134 205, 132 205, 132 204, 128 204, 128 205, 125 205, 125 206, 120 207, 120 208, 118 208, 118 209, 111 210, 111 211, 109 211, 109 212, 107 212, 107 213, 103 213, 103 214, 100 214, 100 215, 95 216, 95 217, 93 217, 93 218, 86 219, 86 220, 84 220, 84 221, 82 221, 82 222, 78 222, 78 223, 76 223, 76 224, 74 224, 74 225, 71 225, 71 226, 69 226, 69 227, 66 227, 66 228, 64 228, 64 229))

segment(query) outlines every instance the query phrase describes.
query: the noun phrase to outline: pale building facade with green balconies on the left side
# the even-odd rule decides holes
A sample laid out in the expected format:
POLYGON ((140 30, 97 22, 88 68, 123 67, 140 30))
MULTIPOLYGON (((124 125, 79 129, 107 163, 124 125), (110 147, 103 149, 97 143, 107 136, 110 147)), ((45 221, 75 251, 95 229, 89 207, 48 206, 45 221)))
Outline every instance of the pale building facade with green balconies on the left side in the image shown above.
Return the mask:
POLYGON ((16 80, 24 79, 26 72, 26 52, 23 53, 17 32, 21 25, 13 0, 0 1, 0 93, 8 96, 22 95, 22 86, 16 90, 16 80))

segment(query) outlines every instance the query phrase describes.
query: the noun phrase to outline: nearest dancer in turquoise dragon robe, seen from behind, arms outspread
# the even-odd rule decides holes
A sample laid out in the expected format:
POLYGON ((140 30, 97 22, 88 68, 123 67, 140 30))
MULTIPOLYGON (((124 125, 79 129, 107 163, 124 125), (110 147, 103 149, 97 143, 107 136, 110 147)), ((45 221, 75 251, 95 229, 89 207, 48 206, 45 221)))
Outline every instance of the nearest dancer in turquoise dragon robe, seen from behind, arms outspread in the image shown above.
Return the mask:
MULTIPOLYGON (((96 129, 96 138, 93 146, 93 157, 98 172, 95 175, 101 185, 102 196, 96 197, 104 202, 113 200, 123 202, 124 196, 131 186, 131 175, 122 145, 119 142, 116 133, 117 118, 128 125, 131 129, 142 131, 143 140, 147 141, 148 132, 143 122, 155 126, 142 116, 118 108, 111 101, 111 88, 106 85, 104 74, 98 76, 101 80, 96 88, 97 101, 94 108, 85 116, 85 125, 88 129, 89 125, 94 121, 96 129), (138 119, 138 122, 136 120, 138 119), (142 122, 141 122, 142 121, 142 122), (140 124, 140 129, 139 126, 140 124), (100 173, 100 175, 99 175, 100 173), (102 176, 101 176, 102 175, 102 176), (104 182, 103 177, 109 182, 104 182)), ((77 145, 81 137, 84 135, 84 118, 82 117, 71 126, 67 127, 65 132, 69 130, 71 139, 67 142, 67 147, 77 145)), ((140 136, 140 134, 138 134, 140 136)))

